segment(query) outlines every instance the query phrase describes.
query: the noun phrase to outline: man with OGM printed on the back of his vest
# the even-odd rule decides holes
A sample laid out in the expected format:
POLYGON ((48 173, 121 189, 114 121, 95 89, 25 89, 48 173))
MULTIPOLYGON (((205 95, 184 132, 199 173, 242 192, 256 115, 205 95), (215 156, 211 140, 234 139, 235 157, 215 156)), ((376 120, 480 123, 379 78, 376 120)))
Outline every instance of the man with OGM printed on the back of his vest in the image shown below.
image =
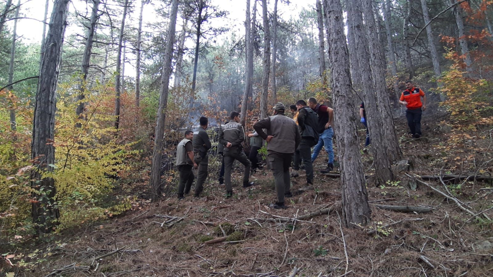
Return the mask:
POLYGON ((245 140, 245 131, 240 124, 240 113, 232 111, 231 121, 224 124, 219 130, 219 143, 224 146, 224 184, 226 186, 226 197, 233 196, 231 185, 231 169, 235 160, 240 161, 245 166, 243 175, 243 187, 249 187, 250 161, 243 152, 242 142, 245 140))

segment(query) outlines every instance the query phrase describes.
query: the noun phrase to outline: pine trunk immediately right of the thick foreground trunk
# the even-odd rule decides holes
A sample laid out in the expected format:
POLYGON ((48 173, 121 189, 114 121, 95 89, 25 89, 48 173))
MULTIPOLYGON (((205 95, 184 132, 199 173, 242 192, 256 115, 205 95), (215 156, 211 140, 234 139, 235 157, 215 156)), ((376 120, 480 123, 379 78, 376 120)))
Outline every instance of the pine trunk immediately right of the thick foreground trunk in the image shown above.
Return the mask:
POLYGON ((358 0, 346 1, 346 7, 348 8, 348 22, 352 23, 354 30, 354 41, 350 46, 353 45, 354 48, 352 59, 358 61, 359 64, 359 71, 356 74, 360 74, 359 80, 362 82, 360 86, 363 88, 362 96, 371 138, 376 183, 377 185, 385 185, 388 180, 393 180, 394 176, 391 168, 391 156, 387 153, 387 142, 382 129, 383 122, 378 109, 379 103, 375 93, 373 93, 375 86, 371 74, 368 39, 363 26, 363 16, 358 0))

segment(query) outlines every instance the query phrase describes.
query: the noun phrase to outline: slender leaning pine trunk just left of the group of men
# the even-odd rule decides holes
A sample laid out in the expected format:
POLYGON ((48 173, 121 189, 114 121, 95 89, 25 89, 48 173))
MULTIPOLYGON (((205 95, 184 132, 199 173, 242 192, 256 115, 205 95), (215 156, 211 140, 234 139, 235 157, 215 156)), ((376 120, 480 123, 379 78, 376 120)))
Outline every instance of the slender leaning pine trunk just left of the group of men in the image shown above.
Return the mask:
POLYGON ((173 43, 175 41, 176 14, 178 13, 178 0, 173 0, 170 13, 170 25, 166 37, 166 51, 164 55, 163 75, 159 97, 159 108, 157 110, 156 132, 154 136, 154 151, 152 153, 151 169, 151 200, 158 201, 161 196, 161 159, 163 151, 164 123, 166 119, 166 106, 168 104, 168 92, 171 76, 171 59, 173 57, 173 43))

